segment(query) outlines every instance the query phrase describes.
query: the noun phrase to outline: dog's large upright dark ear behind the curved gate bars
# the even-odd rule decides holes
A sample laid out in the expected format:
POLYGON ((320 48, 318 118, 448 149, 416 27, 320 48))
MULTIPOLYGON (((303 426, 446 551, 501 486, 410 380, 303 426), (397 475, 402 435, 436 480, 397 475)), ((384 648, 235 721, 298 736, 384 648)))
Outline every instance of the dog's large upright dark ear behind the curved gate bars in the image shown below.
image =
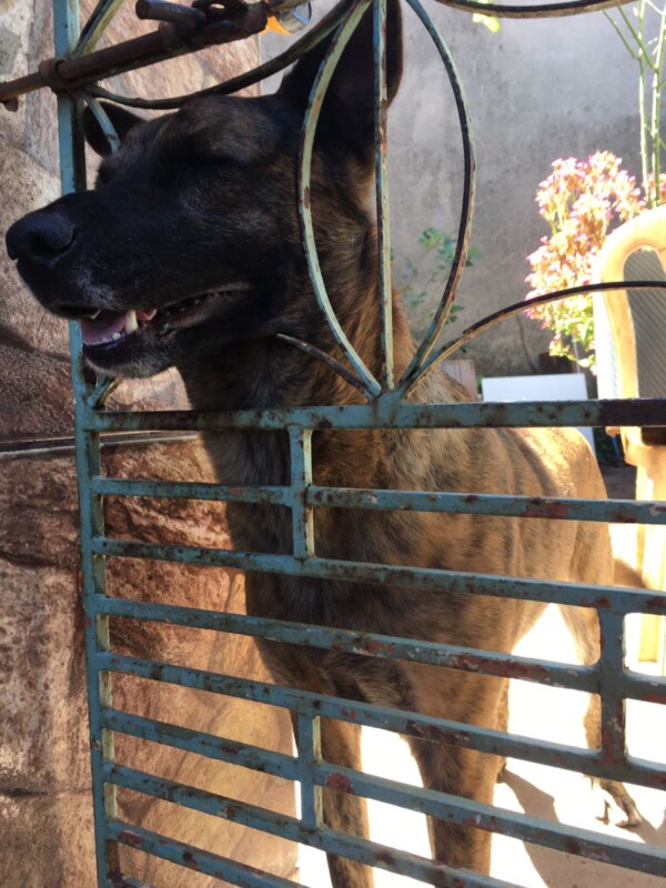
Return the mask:
MULTIPOLYGON (((303 56, 284 78, 279 94, 301 113, 331 44, 322 40, 303 56)), ((386 91, 393 101, 402 77, 402 16, 400 0, 386 3, 386 91)), ((346 148, 369 160, 374 139, 373 10, 363 16, 333 73, 317 124, 317 139, 334 148, 346 148)))

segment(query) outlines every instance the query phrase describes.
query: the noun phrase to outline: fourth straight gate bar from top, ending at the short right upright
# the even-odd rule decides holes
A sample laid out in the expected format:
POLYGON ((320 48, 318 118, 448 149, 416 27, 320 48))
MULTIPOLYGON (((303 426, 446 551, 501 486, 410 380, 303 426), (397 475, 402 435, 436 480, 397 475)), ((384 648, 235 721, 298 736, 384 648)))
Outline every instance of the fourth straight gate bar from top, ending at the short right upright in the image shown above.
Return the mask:
MULTIPOLYGON (((598 689, 598 679, 594 666, 563 665, 562 663, 548 663, 528 657, 475 650, 436 642, 421 642, 397 638, 391 635, 379 635, 376 633, 314 626, 310 623, 287 623, 286 620, 251 617, 244 614, 221 614, 215 610, 133 602, 102 595, 98 597, 97 604, 100 614, 110 616, 147 619, 155 623, 189 626, 196 629, 230 632, 239 635, 250 635, 254 638, 268 638, 272 642, 284 642, 325 650, 344 650, 347 654, 359 654, 380 659, 406 659, 411 663, 426 663, 432 666, 445 666, 484 675, 519 678, 526 682, 538 682, 552 687, 566 687, 587 693, 595 693, 598 689)), ((645 693, 650 695, 652 698, 655 692, 655 687, 652 684, 654 679, 638 677, 638 680, 640 683, 645 680, 645 693)), ((643 684, 638 686, 632 684, 634 693, 628 696, 640 694, 642 687, 643 684)), ((644 698, 642 694, 638 696, 638 699, 644 698)))

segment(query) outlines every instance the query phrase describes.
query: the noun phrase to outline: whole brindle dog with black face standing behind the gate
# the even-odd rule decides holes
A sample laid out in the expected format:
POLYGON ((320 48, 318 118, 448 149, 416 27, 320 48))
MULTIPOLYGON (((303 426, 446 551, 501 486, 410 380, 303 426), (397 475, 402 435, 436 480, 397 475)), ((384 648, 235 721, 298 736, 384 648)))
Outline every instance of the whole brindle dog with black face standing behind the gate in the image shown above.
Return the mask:
MULTIPOLYGON (((400 12, 391 9, 387 77, 392 99, 402 69, 400 12)), ((379 373, 375 223, 366 209, 374 169, 371 28, 364 20, 325 100, 315 142, 312 203, 320 261, 349 337, 379 373)), ((215 95, 178 113, 139 121, 108 112, 122 139, 115 155, 92 119, 90 144, 104 155, 95 189, 64 196, 17 222, 9 254, 49 311, 81 324, 84 354, 100 371, 150 376, 175 366, 195 408, 242 410, 352 404, 347 383, 278 340, 289 333, 339 354, 316 306, 296 214, 296 162, 303 111, 325 48, 304 57, 274 95, 215 95)), ((394 304, 395 362, 414 343, 394 304)), ((339 355, 340 356, 340 355, 339 355)), ((414 400, 463 400, 433 373, 414 400)), ((220 481, 289 484, 285 433, 209 435, 220 481)), ((604 497, 595 460, 568 431, 442 430, 317 432, 320 485, 604 497)), ((278 506, 228 506, 240 549, 291 552, 289 513, 278 506)), ((595 523, 519 521, 470 515, 317 511, 324 557, 551 581, 612 583, 608 532, 595 523)), ((251 614, 394 636, 511 652, 534 624, 536 603, 250 574, 251 614)), ((589 609, 567 622, 586 663, 598 656, 589 609)), ((336 650, 261 644, 275 680, 320 694, 504 728, 507 680, 336 650)), ((599 710, 588 718, 598 740, 599 710)), ((327 760, 360 768, 359 729, 322 725, 327 760)), ((491 803, 502 761, 411 737, 425 786, 491 803)), ((620 784, 605 783, 627 823, 639 815, 620 784)), ((326 823, 367 835, 364 804, 327 791, 326 823)), ((491 836, 440 819, 430 824, 433 856, 487 872, 491 836)), ((335 888, 369 888, 369 868, 330 859, 335 888)))

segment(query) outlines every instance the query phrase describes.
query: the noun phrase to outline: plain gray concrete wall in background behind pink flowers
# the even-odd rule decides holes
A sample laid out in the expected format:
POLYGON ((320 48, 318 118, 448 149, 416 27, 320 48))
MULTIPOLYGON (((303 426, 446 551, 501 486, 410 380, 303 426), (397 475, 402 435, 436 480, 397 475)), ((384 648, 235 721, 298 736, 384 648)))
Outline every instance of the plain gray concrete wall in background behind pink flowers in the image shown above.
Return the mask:
MULTIPOLYGON (((314 6, 321 14, 320 0, 314 6)), ((478 161, 472 245, 480 258, 463 279, 464 311, 448 336, 527 293, 525 258, 547 233, 534 196, 553 160, 610 150, 638 170, 638 87, 635 62, 602 13, 504 20, 494 34, 464 12, 432 0, 425 6, 458 67, 478 161)), ((410 10, 405 32, 405 75, 390 114, 397 283, 403 255, 422 255, 416 240, 423 229, 457 229, 462 181, 460 128, 444 69, 410 10)), ((283 50, 285 40, 263 37, 262 57, 283 50)), ((480 339, 470 356, 485 375, 531 373, 548 341, 537 323, 513 319, 480 339)))

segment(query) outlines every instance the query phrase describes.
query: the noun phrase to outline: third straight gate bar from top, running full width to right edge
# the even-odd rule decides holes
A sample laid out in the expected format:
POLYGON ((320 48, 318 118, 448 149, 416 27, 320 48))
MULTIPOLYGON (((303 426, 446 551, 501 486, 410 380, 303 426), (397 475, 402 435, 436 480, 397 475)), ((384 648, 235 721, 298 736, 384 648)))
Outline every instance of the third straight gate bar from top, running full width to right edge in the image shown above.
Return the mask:
POLYGON ((294 558, 292 555, 263 555, 253 552, 133 543, 97 536, 92 549, 98 555, 121 558, 150 558, 209 567, 234 567, 283 576, 311 576, 344 583, 373 583, 402 588, 464 595, 490 595, 533 602, 595 607, 624 614, 666 614, 666 595, 645 589, 594 586, 583 583, 553 583, 545 579, 438 571, 428 567, 343 562, 334 558, 294 558))

